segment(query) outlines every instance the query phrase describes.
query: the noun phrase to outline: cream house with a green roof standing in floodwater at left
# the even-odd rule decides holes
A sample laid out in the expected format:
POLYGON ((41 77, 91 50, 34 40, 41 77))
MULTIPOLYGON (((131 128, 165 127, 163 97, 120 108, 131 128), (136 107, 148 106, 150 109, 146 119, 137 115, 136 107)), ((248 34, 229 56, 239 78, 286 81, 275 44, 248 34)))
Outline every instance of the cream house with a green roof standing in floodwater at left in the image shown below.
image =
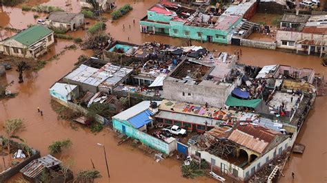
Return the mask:
POLYGON ((1 41, 0 53, 17 57, 38 58, 45 54, 48 47, 53 43, 53 31, 42 25, 35 25, 1 41))

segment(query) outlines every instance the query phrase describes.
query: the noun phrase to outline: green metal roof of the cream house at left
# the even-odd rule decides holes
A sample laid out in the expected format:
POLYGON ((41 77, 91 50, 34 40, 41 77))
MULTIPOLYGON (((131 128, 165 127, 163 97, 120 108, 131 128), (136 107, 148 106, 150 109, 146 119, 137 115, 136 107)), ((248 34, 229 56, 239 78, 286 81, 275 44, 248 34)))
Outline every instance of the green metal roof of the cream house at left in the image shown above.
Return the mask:
POLYGON ((23 45, 30 46, 51 32, 53 31, 42 25, 35 25, 12 36, 11 39, 16 40, 23 45))

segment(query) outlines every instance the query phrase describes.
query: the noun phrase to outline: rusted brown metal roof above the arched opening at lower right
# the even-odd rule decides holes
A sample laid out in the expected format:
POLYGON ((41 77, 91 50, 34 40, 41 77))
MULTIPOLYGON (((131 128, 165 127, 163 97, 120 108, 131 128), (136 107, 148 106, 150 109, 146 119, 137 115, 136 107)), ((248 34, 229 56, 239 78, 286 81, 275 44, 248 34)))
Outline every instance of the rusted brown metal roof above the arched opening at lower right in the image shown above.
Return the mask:
POLYGON ((264 127, 237 125, 228 140, 240 144, 257 153, 263 153, 277 136, 277 132, 264 127))

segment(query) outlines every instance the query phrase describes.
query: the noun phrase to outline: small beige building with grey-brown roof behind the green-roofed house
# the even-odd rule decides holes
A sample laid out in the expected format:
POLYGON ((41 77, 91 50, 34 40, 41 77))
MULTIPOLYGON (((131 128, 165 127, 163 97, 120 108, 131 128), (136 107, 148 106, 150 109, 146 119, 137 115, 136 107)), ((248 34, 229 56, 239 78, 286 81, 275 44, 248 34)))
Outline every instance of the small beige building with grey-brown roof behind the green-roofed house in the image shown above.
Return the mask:
POLYGON ((84 27, 84 14, 68 12, 52 12, 46 18, 48 28, 61 30, 77 30, 84 27))

